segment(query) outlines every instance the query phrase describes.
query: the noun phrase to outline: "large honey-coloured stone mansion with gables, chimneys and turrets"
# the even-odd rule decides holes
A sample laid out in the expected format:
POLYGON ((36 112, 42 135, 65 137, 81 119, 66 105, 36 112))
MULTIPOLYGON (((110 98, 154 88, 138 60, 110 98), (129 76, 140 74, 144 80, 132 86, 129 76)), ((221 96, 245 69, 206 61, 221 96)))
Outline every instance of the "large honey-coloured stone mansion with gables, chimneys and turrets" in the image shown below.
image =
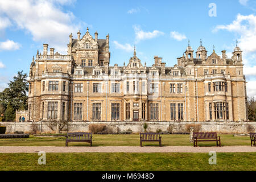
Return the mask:
POLYGON ((43 44, 33 57, 28 121, 247 121, 239 47, 229 59, 188 45, 174 67, 158 56, 147 67, 134 49, 128 64, 110 66, 109 35, 80 35, 69 35, 67 55, 43 44))

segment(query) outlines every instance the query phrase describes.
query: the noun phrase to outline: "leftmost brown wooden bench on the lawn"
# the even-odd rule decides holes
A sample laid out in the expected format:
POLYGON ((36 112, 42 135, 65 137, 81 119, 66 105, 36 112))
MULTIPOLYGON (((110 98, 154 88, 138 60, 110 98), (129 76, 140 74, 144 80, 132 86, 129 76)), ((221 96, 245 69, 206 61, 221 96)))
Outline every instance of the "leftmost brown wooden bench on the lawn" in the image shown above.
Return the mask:
POLYGON ((92 133, 68 133, 66 136, 66 147, 68 146, 68 142, 88 142, 92 146, 92 133))

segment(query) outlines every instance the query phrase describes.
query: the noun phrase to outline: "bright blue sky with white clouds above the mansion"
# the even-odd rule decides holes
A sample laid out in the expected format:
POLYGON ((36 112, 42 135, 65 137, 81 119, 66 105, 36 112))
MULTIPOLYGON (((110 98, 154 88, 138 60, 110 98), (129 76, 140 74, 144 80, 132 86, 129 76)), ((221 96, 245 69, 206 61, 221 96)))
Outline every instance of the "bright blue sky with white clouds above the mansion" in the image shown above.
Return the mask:
POLYGON ((133 56, 133 46, 142 63, 152 65, 158 55, 167 67, 177 63, 188 45, 196 51, 207 48, 208 55, 230 57, 236 46, 243 50, 247 93, 256 96, 256 2, 225 1, 74 1, 0 0, 0 91, 23 70, 29 71, 32 56, 43 43, 55 52, 67 54, 69 34, 77 38, 86 28, 99 39, 110 35, 110 64, 123 65, 133 56), (210 3, 216 16, 209 16, 210 3))

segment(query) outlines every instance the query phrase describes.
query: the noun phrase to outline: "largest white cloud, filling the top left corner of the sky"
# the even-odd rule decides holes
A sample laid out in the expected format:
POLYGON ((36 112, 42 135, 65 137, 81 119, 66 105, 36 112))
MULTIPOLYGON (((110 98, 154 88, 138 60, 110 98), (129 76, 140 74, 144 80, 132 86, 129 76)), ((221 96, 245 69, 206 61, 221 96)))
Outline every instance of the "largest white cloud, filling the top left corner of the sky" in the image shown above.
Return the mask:
MULTIPOLYGON (((75 34, 83 22, 75 23, 71 12, 63 12, 61 6, 72 0, 9 0, 0 1, 0 12, 16 27, 29 32, 35 42, 48 43, 56 51, 66 53, 68 36, 75 34)), ((0 14, 1 14, 0 13, 0 14)))

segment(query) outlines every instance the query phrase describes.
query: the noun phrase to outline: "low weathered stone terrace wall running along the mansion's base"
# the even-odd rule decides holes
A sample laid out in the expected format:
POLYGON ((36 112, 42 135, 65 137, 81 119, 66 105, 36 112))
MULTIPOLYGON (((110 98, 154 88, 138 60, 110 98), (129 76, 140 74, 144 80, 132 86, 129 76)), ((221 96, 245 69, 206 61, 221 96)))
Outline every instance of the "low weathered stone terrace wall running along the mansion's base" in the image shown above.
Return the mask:
MULTIPOLYGON (((115 133, 131 129, 134 133, 142 132, 143 122, 69 122, 61 133, 76 132, 76 131, 88 131, 91 124, 105 124, 111 127, 115 133)), ((203 132, 216 131, 222 134, 246 134, 247 125, 254 127, 256 132, 256 122, 146 122, 148 124, 148 131, 155 132, 157 129, 167 131, 169 126, 172 127, 174 133, 184 133, 187 125, 201 124, 201 130, 203 132)), ((55 133, 56 125, 53 125, 52 130, 49 122, 0 122, 0 125, 6 126, 6 133, 14 132, 14 125, 16 125, 16 131, 24 131, 24 133, 32 133, 33 131, 38 133, 55 133)))

